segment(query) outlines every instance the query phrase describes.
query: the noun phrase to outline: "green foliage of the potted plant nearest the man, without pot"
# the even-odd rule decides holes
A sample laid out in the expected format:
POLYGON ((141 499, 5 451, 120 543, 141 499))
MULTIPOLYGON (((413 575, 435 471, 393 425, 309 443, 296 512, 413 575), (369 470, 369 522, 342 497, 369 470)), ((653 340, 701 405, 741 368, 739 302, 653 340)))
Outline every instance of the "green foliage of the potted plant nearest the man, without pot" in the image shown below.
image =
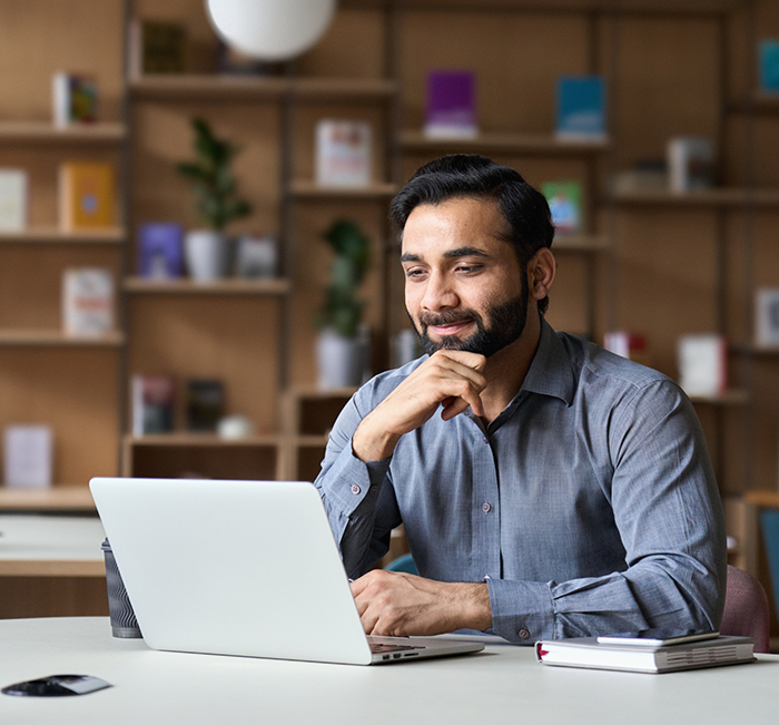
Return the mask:
POLYGON ((356 296, 369 262, 369 241, 355 222, 337 221, 324 234, 335 252, 331 284, 316 317, 318 327, 334 327, 344 337, 356 337, 365 302, 356 296))

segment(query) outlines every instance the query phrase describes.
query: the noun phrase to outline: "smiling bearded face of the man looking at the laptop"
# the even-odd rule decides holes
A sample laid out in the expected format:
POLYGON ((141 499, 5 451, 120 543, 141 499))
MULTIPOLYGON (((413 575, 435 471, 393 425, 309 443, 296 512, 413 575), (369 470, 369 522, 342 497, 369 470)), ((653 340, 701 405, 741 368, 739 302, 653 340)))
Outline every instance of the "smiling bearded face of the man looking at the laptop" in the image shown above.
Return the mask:
POLYGON ((527 319, 527 276, 500 237, 505 222, 490 200, 420 205, 403 232, 406 312, 425 352, 490 356, 519 340, 527 319))

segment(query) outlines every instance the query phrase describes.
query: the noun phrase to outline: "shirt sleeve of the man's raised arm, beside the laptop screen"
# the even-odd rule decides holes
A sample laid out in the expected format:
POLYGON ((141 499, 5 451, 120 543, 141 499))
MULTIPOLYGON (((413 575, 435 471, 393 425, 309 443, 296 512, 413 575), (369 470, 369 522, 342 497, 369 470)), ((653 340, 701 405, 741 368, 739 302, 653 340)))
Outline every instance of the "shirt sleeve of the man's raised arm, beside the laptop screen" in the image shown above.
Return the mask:
POLYGON ((365 463, 352 451, 352 435, 364 418, 359 398, 358 392, 338 415, 314 482, 352 579, 387 552, 391 531, 402 522, 389 474, 392 459, 365 463))

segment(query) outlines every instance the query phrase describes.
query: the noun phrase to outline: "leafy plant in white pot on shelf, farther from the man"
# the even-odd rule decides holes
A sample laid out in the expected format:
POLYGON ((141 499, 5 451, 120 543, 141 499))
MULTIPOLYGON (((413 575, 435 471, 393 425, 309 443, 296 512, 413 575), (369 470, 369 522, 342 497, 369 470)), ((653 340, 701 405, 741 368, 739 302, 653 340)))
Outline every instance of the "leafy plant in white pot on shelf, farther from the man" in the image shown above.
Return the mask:
POLYGON ((237 182, 230 168, 239 148, 217 138, 201 118, 191 120, 195 129, 194 161, 185 161, 177 170, 193 183, 197 210, 206 229, 193 229, 185 238, 185 258, 195 280, 223 277, 229 267, 229 245, 225 227, 250 214, 248 202, 238 198, 237 182))

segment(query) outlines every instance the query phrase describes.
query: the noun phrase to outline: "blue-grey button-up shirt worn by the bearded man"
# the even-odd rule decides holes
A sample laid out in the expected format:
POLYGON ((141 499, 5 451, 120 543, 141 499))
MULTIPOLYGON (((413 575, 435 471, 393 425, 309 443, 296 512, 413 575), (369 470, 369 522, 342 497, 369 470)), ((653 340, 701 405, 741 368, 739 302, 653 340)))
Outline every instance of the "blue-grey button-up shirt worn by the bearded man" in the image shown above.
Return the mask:
POLYGON ((436 413, 363 463, 352 434, 423 360, 364 385, 331 433, 316 486, 351 577, 403 522, 422 576, 486 581, 506 639, 717 628, 722 509, 672 380, 543 322, 520 392, 486 429, 436 413))

